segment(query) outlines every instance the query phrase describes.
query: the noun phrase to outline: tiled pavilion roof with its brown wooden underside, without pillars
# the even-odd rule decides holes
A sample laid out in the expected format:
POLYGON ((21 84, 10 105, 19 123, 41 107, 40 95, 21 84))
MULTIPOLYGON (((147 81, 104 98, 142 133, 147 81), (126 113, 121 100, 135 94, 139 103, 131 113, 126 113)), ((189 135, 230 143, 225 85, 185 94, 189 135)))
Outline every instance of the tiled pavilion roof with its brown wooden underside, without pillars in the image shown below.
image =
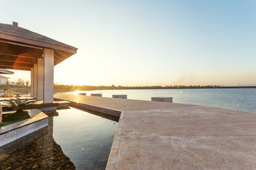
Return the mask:
POLYGON ((18 23, 0 23, 0 68, 31 70, 37 58, 43 57, 43 48, 54 50, 54 64, 74 55, 78 48, 66 45, 31 30, 18 27, 18 23))

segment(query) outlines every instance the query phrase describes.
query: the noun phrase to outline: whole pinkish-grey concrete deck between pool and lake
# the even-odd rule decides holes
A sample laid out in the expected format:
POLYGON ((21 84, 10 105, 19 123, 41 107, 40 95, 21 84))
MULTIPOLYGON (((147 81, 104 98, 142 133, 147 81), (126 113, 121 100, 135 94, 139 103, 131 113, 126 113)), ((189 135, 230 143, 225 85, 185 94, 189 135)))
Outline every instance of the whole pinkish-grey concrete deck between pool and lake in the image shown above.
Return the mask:
POLYGON ((106 169, 256 169, 256 114, 73 94, 65 101, 121 111, 106 169))

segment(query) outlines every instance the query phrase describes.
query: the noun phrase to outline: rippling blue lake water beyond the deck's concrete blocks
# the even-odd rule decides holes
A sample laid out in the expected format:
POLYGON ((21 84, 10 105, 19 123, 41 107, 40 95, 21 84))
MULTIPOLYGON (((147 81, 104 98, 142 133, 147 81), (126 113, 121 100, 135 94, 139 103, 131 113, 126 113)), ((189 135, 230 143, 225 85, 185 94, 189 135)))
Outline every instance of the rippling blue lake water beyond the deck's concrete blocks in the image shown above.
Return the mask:
POLYGON ((256 113, 256 89, 154 89, 85 92, 87 96, 90 96, 91 93, 100 93, 103 97, 112 97, 112 94, 127 94, 129 99, 146 101, 151 101, 153 96, 171 96, 174 103, 198 104, 256 113))

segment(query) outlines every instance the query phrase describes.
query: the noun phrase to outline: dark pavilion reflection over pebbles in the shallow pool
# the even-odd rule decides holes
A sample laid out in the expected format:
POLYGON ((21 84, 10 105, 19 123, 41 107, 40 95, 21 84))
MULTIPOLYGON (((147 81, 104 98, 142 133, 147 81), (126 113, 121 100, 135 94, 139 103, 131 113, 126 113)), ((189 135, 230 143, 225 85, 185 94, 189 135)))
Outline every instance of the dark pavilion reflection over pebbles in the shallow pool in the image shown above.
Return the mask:
POLYGON ((0 148, 1 169, 75 169, 53 140, 53 117, 49 126, 0 148))

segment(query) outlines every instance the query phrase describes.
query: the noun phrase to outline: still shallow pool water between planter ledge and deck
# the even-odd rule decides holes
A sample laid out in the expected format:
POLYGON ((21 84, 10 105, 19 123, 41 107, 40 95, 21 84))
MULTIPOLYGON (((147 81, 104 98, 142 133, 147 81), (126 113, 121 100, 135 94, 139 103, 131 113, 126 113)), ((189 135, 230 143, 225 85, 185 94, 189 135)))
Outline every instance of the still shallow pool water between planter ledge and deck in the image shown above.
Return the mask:
POLYGON ((0 147, 0 169, 105 169, 118 118, 59 110, 46 128, 0 147))

